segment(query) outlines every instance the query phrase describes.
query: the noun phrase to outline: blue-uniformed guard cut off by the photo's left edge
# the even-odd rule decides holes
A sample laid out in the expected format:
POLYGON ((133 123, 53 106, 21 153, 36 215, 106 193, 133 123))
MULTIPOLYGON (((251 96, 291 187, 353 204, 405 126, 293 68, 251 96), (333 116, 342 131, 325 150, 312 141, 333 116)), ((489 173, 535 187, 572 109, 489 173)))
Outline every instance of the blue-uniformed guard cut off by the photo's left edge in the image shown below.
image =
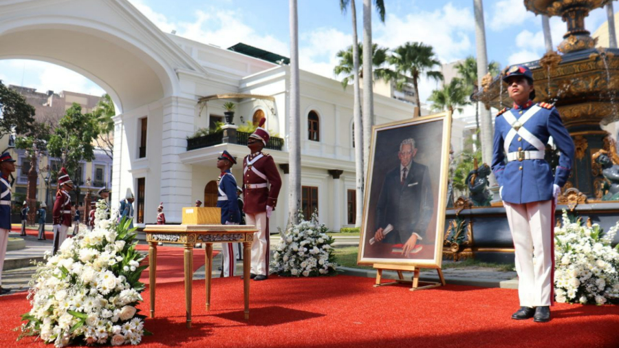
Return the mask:
POLYGON ((8 152, 0 156, 0 295, 10 292, 2 288, 2 270, 11 231, 11 184, 8 177, 15 171, 15 160, 8 152))

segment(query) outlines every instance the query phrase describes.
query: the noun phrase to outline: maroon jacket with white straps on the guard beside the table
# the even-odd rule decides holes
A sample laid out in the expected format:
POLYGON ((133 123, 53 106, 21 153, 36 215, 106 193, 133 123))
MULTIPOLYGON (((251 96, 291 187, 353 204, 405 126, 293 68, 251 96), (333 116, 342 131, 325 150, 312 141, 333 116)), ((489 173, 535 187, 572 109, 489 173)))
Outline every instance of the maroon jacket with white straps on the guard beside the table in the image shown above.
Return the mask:
POLYGON ((273 157, 266 153, 247 155, 243 159, 243 211, 255 214, 275 208, 281 177, 273 157))

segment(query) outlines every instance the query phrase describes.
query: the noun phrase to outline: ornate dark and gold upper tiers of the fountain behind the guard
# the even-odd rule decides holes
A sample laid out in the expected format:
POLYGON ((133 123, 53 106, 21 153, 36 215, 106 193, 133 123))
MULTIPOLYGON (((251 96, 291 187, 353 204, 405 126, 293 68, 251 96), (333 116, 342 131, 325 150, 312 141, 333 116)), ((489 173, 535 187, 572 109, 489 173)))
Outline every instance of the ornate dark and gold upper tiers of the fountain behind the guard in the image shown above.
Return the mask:
MULTIPOLYGON (((524 65, 533 72, 535 101, 554 104, 576 145, 572 175, 563 190, 578 188, 590 199, 602 198, 605 180, 595 170, 592 155, 600 149, 616 153, 609 133, 600 124, 619 120, 619 50, 595 48, 596 39, 585 30, 589 11, 607 3, 609 0, 524 0, 531 12, 561 16, 567 23, 558 53, 548 52, 539 61, 524 65)), ((486 107, 510 106, 500 75, 488 76, 484 82, 479 99, 486 107)))

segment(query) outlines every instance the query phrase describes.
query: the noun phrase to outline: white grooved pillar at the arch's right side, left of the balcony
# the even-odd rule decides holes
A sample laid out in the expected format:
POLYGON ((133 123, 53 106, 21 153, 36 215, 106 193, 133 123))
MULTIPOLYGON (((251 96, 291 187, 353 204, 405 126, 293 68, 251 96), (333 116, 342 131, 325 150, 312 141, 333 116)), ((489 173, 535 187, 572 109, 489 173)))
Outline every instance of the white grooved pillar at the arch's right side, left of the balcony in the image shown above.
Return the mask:
POLYGON ((182 208, 192 203, 192 168, 180 162, 187 151, 187 136, 193 133, 196 100, 171 97, 163 107, 161 199, 166 221, 180 223, 182 208))

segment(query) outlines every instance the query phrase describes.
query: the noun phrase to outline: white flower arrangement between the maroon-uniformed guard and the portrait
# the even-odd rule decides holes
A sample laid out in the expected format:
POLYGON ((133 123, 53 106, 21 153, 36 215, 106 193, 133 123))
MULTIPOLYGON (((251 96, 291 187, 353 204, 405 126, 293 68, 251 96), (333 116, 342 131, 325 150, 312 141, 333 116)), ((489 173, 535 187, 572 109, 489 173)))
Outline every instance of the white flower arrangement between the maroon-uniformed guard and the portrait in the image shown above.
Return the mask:
POLYGON ((274 272, 281 276, 321 276, 336 274, 337 263, 333 255, 333 237, 327 235, 325 224, 318 224, 318 215, 312 214, 305 221, 303 213, 298 213, 301 221, 290 226, 285 232, 279 229, 281 241, 271 263, 274 272))

